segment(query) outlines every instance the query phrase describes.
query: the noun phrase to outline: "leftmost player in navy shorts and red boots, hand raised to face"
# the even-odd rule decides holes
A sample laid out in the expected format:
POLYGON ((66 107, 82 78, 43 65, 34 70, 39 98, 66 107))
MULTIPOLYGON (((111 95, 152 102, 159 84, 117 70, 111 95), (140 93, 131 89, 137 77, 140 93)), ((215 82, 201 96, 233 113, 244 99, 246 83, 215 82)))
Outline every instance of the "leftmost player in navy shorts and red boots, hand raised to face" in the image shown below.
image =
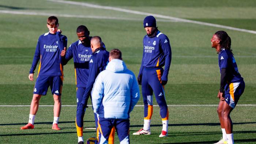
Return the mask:
POLYGON ((61 50, 67 47, 67 37, 61 35, 58 30, 57 17, 50 16, 47 20, 48 33, 41 35, 37 42, 33 63, 30 69, 29 80, 34 80, 34 71, 40 60, 38 76, 35 82, 34 95, 30 105, 29 123, 20 129, 33 129, 35 114, 38 111, 39 100, 46 95, 50 86, 53 99, 53 125, 52 129, 60 130, 58 121, 61 110, 61 91, 63 84, 63 65, 61 62, 61 50))

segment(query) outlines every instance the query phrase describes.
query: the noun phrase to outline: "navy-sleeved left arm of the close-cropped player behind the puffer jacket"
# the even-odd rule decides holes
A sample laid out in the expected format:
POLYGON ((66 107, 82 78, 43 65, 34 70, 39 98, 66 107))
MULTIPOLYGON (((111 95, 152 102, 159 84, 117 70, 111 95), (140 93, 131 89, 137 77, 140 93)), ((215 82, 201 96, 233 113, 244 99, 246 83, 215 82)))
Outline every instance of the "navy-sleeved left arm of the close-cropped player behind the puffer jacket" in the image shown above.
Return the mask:
POLYGON ((93 88, 93 84, 95 82, 96 74, 97 74, 97 71, 98 71, 97 58, 92 56, 90 61, 91 60, 93 62, 89 62, 89 77, 88 77, 88 81, 87 81, 87 84, 86 84, 86 89, 84 91, 82 104, 85 104, 87 99, 90 96, 90 92, 93 88))

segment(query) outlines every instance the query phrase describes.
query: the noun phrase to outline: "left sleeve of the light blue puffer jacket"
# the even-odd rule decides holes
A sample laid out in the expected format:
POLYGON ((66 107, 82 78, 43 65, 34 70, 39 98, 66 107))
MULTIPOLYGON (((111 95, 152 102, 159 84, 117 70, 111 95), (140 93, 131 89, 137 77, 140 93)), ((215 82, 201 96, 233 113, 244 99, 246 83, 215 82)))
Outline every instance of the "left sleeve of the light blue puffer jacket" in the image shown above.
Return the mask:
POLYGON ((103 92, 104 92, 104 85, 103 85, 103 76, 99 73, 98 77, 95 80, 91 97, 93 102, 93 111, 94 113, 99 112, 99 107, 101 106, 102 99, 103 99, 103 92))

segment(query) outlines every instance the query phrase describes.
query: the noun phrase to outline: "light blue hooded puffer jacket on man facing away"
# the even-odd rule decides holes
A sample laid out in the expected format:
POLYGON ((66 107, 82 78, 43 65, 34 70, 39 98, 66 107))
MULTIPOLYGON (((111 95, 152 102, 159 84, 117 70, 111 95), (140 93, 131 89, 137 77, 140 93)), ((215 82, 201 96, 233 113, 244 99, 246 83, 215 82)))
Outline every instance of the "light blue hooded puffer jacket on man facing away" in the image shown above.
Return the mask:
POLYGON ((111 60, 99 73, 91 94, 94 113, 113 119, 128 119, 140 97, 134 73, 118 59, 111 60))

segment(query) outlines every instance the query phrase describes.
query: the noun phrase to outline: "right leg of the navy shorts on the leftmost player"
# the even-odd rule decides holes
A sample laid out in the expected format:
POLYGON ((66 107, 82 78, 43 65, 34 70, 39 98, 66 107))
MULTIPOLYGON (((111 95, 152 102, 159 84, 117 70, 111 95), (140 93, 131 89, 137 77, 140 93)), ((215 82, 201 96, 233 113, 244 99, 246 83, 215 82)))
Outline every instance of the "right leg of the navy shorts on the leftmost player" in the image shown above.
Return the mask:
POLYGON ((62 91, 62 85, 63 85, 61 76, 52 76, 49 83, 50 83, 52 94, 60 96, 62 91))

